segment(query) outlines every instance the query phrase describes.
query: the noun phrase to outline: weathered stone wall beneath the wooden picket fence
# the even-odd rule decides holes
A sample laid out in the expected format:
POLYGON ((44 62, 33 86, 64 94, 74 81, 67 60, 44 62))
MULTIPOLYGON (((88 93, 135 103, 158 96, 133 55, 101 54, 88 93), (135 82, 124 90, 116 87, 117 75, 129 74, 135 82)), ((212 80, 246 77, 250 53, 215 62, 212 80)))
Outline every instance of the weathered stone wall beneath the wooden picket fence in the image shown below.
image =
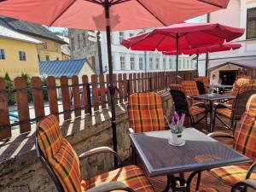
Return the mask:
MULTIPOLYGON (((161 94, 165 114, 169 116, 173 111, 171 96, 167 92, 162 92, 161 94)), ((92 116, 84 116, 80 119, 64 122, 61 125, 63 134, 67 135, 67 140, 78 154, 90 148, 112 147, 112 129, 108 111, 97 112, 92 116)), ((131 142, 128 135, 128 127, 128 115, 124 104, 117 107, 118 151, 122 160, 129 160, 130 158, 131 142)), ((31 139, 32 142, 28 142, 27 145, 33 146, 34 135, 30 134, 30 137, 26 136, 25 138, 26 140, 31 139)), ((9 146, 14 145, 15 142, 17 140, 9 143, 9 146)), ((22 153, 17 154, 15 157, 10 157, 0 163, 1 192, 56 191, 54 183, 50 180, 48 173, 38 160, 34 147, 28 148, 28 150, 23 150, 22 153)), ((83 178, 93 177, 113 168, 113 157, 109 154, 100 154, 88 160, 81 160, 80 166, 83 178)))

